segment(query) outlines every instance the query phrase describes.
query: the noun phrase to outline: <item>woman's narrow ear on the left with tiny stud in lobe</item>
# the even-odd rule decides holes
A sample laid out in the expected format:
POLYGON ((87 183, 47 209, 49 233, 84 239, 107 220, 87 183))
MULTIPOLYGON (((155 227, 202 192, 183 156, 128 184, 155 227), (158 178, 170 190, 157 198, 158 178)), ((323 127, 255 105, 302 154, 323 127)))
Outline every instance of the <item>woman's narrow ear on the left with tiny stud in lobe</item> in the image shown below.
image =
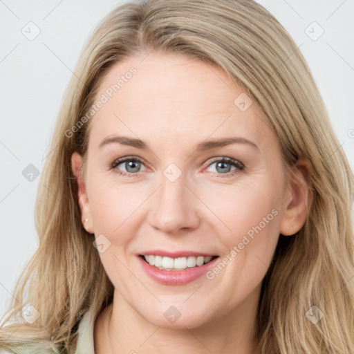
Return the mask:
POLYGON ((93 223, 92 223, 90 207, 88 203, 88 196, 86 193, 86 187, 84 184, 84 180, 82 178, 81 167, 82 167, 82 156, 80 155, 80 153, 77 153, 75 151, 71 156, 71 168, 77 180, 77 201, 79 202, 80 205, 82 225, 84 225, 84 228, 86 229, 87 232, 91 233, 90 230, 93 230, 93 223), (88 219, 88 221, 85 222, 84 221, 85 219, 88 219))

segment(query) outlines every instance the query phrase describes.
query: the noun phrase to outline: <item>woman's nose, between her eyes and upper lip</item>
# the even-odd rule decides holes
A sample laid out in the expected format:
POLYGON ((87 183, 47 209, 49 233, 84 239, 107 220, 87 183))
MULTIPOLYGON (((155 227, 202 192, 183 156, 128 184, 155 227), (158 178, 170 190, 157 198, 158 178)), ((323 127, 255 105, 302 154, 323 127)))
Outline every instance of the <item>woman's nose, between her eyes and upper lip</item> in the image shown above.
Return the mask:
POLYGON ((162 175, 161 185, 151 200, 149 225, 165 234, 194 230, 200 223, 197 201, 191 188, 185 185, 183 174, 174 182, 162 175))

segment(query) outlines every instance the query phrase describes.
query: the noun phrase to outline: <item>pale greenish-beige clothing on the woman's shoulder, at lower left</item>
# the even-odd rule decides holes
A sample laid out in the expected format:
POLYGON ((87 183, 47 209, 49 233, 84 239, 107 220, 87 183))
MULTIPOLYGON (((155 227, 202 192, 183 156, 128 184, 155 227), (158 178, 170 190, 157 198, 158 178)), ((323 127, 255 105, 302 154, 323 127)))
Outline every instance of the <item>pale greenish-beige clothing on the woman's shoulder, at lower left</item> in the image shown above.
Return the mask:
MULTIPOLYGON (((93 314, 90 310, 86 311, 82 316, 79 327, 77 328, 77 345, 75 354, 95 354, 95 348, 93 346, 93 314)), ((57 348, 53 348, 55 353, 59 353, 57 348)), ((21 354, 33 354, 32 348, 19 349, 21 354)), ((44 353, 44 351, 35 351, 36 354, 44 353)), ((47 353, 47 352, 46 352, 47 353)), ((1 350, 0 354, 13 354, 10 351, 1 350)))

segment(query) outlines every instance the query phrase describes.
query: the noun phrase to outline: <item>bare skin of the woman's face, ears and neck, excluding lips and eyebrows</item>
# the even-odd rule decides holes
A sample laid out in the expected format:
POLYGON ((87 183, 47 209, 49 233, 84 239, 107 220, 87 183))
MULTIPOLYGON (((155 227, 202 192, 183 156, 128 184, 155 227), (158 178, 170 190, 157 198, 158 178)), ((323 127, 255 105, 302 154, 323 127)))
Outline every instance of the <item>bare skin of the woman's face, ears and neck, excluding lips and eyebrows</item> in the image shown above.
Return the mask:
POLYGON ((299 178, 288 183, 267 118, 254 103, 246 111, 234 104, 243 90, 216 66, 170 53, 142 57, 115 64, 104 77, 97 99, 131 66, 137 69, 89 122, 85 180, 81 156, 73 153, 71 161, 82 223, 111 242, 100 259, 114 299, 95 321, 95 353, 257 353, 261 282, 279 233, 294 234, 306 221, 308 164, 299 160, 299 178), (140 138, 149 149, 118 143, 100 149, 113 135, 140 138), (236 143, 196 151, 199 142, 234 136, 258 149, 236 143), (124 156, 145 160, 130 172, 136 176, 118 174, 132 171, 125 163, 109 169, 124 156), (217 168, 212 158, 223 157, 245 167, 217 168), (174 182, 163 174, 171 163, 182 172, 174 182), (200 250, 222 260, 272 209, 277 216, 214 279, 162 285, 136 257, 152 249, 200 250), (170 306, 181 314, 173 324, 164 316, 170 306))

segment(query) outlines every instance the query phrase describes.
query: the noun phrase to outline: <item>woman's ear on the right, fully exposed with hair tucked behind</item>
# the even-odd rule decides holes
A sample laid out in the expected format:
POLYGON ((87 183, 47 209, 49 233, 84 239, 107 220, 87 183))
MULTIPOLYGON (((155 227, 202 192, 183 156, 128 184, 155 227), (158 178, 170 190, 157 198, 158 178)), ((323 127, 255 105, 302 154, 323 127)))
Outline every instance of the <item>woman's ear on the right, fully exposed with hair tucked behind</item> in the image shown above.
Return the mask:
POLYGON ((306 158, 299 158, 290 171, 280 225, 280 233, 284 236, 296 234, 304 226, 313 201, 313 194, 308 185, 310 173, 310 162, 306 158))

